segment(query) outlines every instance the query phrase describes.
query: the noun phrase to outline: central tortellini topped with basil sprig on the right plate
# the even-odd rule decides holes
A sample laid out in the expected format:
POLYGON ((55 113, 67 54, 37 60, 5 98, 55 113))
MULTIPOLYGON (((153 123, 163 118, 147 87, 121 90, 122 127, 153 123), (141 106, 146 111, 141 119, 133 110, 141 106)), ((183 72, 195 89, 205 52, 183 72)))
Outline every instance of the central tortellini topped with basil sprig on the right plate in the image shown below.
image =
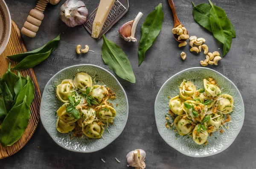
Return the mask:
POLYGON ((207 112, 206 105, 193 100, 186 100, 183 103, 182 108, 187 117, 194 122, 203 120, 205 113, 207 112))

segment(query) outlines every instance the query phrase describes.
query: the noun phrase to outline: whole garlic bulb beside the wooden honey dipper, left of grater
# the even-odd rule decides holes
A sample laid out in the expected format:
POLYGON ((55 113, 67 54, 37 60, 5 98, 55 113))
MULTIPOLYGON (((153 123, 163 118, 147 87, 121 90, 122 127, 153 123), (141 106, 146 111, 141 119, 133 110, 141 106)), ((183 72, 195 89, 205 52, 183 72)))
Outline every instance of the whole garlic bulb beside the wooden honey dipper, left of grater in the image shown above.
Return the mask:
POLYGON ((61 20, 69 27, 82 25, 88 10, 81 0, 67 0, 60 9, 61 20))

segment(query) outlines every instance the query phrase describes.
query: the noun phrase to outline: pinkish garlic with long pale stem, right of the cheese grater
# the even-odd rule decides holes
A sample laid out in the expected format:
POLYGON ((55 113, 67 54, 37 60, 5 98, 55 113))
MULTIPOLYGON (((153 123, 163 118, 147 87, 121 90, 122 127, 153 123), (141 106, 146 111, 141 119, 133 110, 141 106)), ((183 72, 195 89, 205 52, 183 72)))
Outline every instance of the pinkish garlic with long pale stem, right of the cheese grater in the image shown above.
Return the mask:
POLYGON ((139 12, 134 20, 131 20, 127 23, 124 23, 118 30, 120 36, 128 42, 137 42, 137 39, 134 37, 136 32, 136 26, 142 17, 142 13, 139 12))

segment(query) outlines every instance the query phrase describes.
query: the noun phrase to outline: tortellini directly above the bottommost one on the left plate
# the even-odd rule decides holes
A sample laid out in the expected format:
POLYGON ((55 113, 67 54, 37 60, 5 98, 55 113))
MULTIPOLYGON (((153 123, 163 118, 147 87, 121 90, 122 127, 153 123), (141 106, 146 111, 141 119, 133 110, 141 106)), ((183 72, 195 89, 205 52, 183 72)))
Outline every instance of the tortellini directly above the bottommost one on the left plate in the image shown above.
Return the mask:
POLYGON ((82 106, 77 106, 77 109, 81 112, 81 117, 77 120, 80 127, 93 123, 96 117, 96 111, 93 108, 85 109, 82 106))

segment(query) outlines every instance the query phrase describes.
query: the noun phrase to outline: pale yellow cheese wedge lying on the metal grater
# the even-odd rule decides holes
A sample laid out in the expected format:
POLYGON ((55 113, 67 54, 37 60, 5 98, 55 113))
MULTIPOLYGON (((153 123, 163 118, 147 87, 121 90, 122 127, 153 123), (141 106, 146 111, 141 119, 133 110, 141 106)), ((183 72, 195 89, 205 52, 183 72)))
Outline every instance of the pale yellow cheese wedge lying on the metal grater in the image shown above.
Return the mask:
POLYGON ((100 0, 99 7, 93 21, 93 32, 92 32, 93 38, 99 37, 99 33, 101 32, 102 27, 115 1, 116 0, 100 0))

